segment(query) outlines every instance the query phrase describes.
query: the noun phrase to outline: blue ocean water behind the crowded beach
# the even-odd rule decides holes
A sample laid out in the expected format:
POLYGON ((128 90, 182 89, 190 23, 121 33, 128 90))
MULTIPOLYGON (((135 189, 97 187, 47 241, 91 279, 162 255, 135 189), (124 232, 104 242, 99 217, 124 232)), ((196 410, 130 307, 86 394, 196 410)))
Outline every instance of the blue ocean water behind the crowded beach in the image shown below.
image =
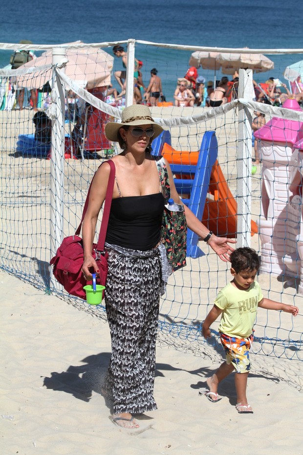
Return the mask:
MULTIPOLYGON (((0 13, 2 43, 23 39, 34 44, 100 43, 134 38, 214 47, 303 47, 303 1, 298 0, 27 0, 14 8, 10 2, 1 2, 0 13)), ((111 47, 105 50, 112 53, 111 47)), ((9 63, 10 54, 0 50, 0 68, 9 63)), ((136 45, 136 57, 144 63, 145 85, 151 68, 157 68, 168 99, 177 77, 183 77, 188 68, 190 55, 191 51, 136 45)), ((275 68, 255 74, 258 82, 270 76, 287 82, 285 67, 303 59, 303 54, 267 56, 275 68)), ((114 70, 119 69, 122 61, 115 58, 114 70)), ((207 80, 214 78, 214 71, 200 68, 198 72, 207 80)), ((216 77, 221 76, 217 72, 216 77)))

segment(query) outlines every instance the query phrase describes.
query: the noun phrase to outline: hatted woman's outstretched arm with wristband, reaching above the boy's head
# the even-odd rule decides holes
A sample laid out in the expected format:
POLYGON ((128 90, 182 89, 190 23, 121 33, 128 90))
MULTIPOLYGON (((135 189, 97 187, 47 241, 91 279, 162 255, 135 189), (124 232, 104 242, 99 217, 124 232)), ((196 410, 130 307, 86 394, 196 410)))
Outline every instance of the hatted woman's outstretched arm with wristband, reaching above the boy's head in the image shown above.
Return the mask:
MULTIPOLYGON (((177 193, 176 187, 174 185, 171 166, 166 159, 165 163, 170 179, 171 197, 177 204, 182 204, 181 199, 177 193)), ((210 230, 206 228, 206 226, 204 226, 200 220, 198 220, 198 218, 186 205, 184 204, 182 205, 184 206, 187 226, 192 231, 194 231, 199 236, 199 238, 205 239, 205 237, 209 234, 210 230)), ((229 255, 234 251, 234 248, 228 245, 228 243, 236 243, 236 240, 227 239, 226 237, 217 237, 215 234, 212 234, 211 238, 207 242, 207 244, 216 252, 216 254, 224 262, 228 262, 230 260, 229 255)))

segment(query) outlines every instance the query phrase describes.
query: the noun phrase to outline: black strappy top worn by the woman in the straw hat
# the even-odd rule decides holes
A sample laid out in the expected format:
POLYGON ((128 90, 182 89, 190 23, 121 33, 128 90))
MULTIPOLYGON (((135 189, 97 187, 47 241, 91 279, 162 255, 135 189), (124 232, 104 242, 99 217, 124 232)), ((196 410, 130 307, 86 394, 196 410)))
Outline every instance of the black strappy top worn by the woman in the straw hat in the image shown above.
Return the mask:
POLYGON ((160 240, 164 204, 162 193, 113 199, 106 241, 132 250, 150 250, 160 240))

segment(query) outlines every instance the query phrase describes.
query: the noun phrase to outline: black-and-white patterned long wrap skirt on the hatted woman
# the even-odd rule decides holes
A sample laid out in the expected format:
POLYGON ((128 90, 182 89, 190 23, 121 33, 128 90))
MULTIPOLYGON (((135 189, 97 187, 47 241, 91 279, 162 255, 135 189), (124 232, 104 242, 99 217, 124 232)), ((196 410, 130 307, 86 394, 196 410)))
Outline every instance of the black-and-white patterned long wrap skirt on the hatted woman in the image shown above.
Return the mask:
POLYGON ((155 348, 159 315, 161 254, 106 245, 106 311, 111 358, 104 392, 113 412, 157 409, 153 398, 155 348))

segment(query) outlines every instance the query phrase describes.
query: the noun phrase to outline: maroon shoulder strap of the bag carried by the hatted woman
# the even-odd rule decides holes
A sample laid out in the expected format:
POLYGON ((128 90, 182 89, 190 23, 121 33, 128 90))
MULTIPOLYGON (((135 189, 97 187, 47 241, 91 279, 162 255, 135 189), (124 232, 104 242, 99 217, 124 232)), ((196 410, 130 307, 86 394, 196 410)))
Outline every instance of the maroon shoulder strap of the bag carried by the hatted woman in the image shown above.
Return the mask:
MULTIPOLYGON (((111 205, 111 200, 112 200, 112 192, 113 192, 113 187, 114 187, 114 182, 115 182, 115 170, 116 170, 115 164, 112 161, 112 159, 109 159, 106 162, 108 162, 108 164, 110 166, 110 173, 109 173, 109 179, 108 179, 108 187, 107 187, 107 190, 106 190, 105 204, 104 204, 102 222, 101 222, 101 227, 100 227, 100 232, 99 232, 98 244, 97 244, 97 247, 96 247, 96 250, 98 250, 98 251, 103 251, 104 250, 106 231, 107 231, 107 228, 108 228, 108 219, 109 219, 110 205, 111 205)), ((102 166, 102 164, 101 164, 101 166, 102 166)), ((87 192, 87 199, 85 201, 85 205, 84 205, 84 209, 83 209, 83 213, 82 213, 82 218, 81 218, 80 224, 79 224, 79 226, 78 226, 78 228, 76 230, 75 235, 79 235, 80 234, 82 223, 83 223, 85 214, 87 212, 91 185, 92 185, 92 182, 93 182, 95 176, 96 176, 96 173, 93 176, 93 178, 91 180, 91 183, 89 185, 88 192, 87 192)))

